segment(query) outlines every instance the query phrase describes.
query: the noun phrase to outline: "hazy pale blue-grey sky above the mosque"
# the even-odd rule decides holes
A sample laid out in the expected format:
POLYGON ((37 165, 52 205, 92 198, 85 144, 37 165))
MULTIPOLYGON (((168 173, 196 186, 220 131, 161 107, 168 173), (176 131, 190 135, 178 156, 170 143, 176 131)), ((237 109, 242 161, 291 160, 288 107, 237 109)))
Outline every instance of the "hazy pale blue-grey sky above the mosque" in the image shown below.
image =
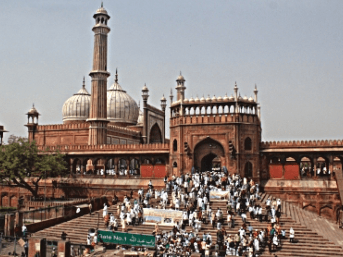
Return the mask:
MULTIPOLYGON (((90 89, 93 14, 101 1, 0 1, 0 124, 27 136, 35 103, 39 124, 62 123, 62 105, 90 89)), ((104 1, 108 68, 137 102, 175 95, 231 95, 261 104, 262 140, 343 139, 343 1, 104 1)), ((167 111, 167 120, 169 112, 167 111)), ((168 124, 166 124, 168 127, 168 124)), ((167 137, 169 131, 167 130, 167 137)))

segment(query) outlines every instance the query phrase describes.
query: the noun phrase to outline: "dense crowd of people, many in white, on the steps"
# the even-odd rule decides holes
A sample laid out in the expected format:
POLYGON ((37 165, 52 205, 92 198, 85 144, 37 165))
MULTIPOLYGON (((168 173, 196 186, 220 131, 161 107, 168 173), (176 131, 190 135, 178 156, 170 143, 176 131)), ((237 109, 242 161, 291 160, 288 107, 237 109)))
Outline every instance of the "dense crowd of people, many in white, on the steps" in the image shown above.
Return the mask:
MULTIPOLYGON (((267 245, 270 252, 281 247, 282 240, 286 238, 286 231, 279 222, 280 199, 268 198, 263 209, 257 203, 259 198, 258 184, 237 174, 228 175, 225 169, 219 172, 192 172, 165 178, 165 188, 161 191, 154 190, 150 181, 145 194, 143 188, 139 189, 133 206, 129 197, 125 197, 117 209, 120 223, 113 213, 108 216, 106 206, 103 216, 109 230, 117 230, 120 224, 122 231, 126 231, 127 225, 135 226, 143 222, 143 208, 179 210, 182 211, 182 218, 175 221, 170 231, 161 231, 158 223, 155 224, 153 234, 157 256, 190 256, 196 252, 205 257, 210 253, 214 256, 252 257, 259 256, 261 249, 267 245), (171 199, 168 192, 171 192, 171 199), (218 195, 224 195, 227 199, 226 209, 217 207, 212 210, 210 202, 212 197, 218 195), (155 206, 152 198, 155 198, 155 206), (268 226, 254 229, 252 223, 247 222, 247 215, 260 222, 268 221, 268 226), (235 217, 240 217, 242 221, 238 227, 235 217), (215 233, 202 229, 209 227, 209 224, 215 233), (238 230, 233 232, 236 227, 238 230)), ((292 228, 289 239, 291 242, 294 240, 292 228)))

